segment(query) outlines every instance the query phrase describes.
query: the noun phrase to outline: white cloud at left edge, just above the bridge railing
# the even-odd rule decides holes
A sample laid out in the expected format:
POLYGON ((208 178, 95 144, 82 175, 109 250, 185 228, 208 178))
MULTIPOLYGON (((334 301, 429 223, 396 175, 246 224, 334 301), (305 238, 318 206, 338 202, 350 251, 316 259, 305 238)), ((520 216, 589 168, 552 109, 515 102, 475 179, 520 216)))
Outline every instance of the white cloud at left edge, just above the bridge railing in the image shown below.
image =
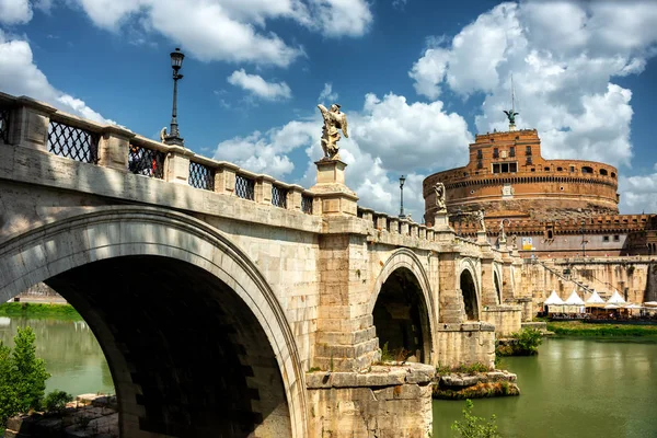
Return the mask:
POLYGON ((111 123, 83 101, 53 87, 36 67, 26 41, 9 39, 0 30, 0 90, 13 95, 27 95, 59 110, 99 123, 111 123))

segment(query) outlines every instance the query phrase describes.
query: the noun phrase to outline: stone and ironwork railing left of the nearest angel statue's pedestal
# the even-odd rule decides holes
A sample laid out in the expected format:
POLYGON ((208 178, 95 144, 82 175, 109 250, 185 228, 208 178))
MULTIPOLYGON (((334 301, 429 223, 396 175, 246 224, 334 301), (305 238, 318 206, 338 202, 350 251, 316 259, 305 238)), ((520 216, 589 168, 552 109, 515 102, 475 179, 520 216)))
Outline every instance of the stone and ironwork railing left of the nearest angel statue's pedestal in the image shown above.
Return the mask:
POLYGON ((320 215, 313 192, 226 161, 198 155, 116 125, 87 120, 32 100, 0 93, 0 145, 20 145, 92 165, 320 215))

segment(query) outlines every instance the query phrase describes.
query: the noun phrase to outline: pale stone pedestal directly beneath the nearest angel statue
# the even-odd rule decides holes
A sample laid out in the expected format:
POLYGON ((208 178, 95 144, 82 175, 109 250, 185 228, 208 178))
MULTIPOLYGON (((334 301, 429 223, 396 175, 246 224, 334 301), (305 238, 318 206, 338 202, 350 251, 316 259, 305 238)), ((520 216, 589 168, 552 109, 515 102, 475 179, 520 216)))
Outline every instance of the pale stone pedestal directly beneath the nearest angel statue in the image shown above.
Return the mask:
POLYGON ((322 215, 356 216, 358 196, 345 185, 346 163, 339 160, 315 161, 318 183, 310 189, 320 199, 322 215))

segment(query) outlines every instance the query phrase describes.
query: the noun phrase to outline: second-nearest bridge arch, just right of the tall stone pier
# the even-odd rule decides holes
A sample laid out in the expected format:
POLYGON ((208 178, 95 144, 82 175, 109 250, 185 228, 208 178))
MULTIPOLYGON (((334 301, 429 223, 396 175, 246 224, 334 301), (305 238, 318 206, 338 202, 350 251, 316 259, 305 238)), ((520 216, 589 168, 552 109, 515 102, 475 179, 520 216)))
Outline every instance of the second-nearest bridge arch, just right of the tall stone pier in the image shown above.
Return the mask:
MULTIPOLYGON (((401 326, 395 327, 399 332, 397 335, 405 339, 417 338, 417 343, 411 339, 407 341, 410 344, 403 347, 414 353, 413 347, 415 345, 411 344, 416 344, 417 349, 420 350, 419 357, 416 357, 417 360, 431 364, 435 351, 433 334, 435 333, 438 315, 437 302, 434 299, 427 273, 418 256, 408 249, 395 251, 383 264, 368 303, 368 313, 372 315, 374 326, 379 322, 377 335, 379 336, 380 346, 382 347, 387 341, 394 342, 384 334, 382 326, 383 324, 388 325, 387 323, 390 322, 390 306, 397 308, 400 304, 407 306, 407 309, 402 309, 402 311, 406 313, 407 310, 408 320, 406 323, 401 323, 401 326), (408 288, 403 285, 408 286, 408 288), (388 304, 388 311, 382 309, 382 306, 385 304, 388 304), (404 331, 405 334, 401 333, 404 331), (415 333, 415 335, 412 333, 415 333)), ((397 345, 392 344, 391 348, 393 347, 397 347, 397 345)))

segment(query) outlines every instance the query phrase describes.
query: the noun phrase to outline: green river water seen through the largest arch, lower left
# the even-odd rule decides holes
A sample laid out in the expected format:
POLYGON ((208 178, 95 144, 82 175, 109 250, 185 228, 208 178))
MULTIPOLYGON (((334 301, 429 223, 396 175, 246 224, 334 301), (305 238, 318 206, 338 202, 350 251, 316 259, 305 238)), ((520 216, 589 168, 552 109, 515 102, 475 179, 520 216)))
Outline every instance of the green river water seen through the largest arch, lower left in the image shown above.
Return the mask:
POLYGON ((36 354, 51 374, 46 392, 73 395, 114 393, 112 374, 95 336, 84 321, 0 319, 0 341, 13 347, 18 327, 30 325, 36 335, 36 354))

